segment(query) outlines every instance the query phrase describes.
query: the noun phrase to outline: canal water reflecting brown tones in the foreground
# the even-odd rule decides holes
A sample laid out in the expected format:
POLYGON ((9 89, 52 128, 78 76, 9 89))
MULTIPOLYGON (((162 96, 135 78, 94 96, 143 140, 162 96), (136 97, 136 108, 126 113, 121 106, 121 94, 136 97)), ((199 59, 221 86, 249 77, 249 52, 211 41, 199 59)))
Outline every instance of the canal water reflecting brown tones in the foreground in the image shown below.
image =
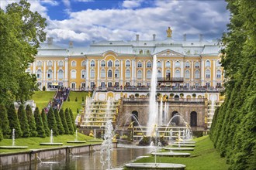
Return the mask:
MULTIPOLYGON (((134 160, 138 156, 149 154, 152 148, 113 148, 112 150, 112 168, 122 168, 126 163, 134 160)), ((35 169, 71 169, 71 170, 98 170, 107 169, 107 165, 102 168, 100 162, 100 151, 84 155, 71 155, 69 160, 48 160, 42 163, 34 163, 31 165, 19 165, 19 167, 12 167, 12 170, 35 169)))

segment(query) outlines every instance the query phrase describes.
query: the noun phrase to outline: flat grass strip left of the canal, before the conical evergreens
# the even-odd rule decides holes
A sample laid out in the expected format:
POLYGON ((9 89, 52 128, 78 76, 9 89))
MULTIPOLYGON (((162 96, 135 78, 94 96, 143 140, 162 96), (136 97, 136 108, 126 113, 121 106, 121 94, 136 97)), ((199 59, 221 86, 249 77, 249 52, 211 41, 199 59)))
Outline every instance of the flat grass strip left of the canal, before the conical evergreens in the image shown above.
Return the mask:
MULTIPOLYGON (((90 144, 96 144, 100 142, 92 142, 87 141, 84 144, 73 144, 73 143, 67 143, 67 141, 74 141, 75 134, 63 134, 58 135, 57 137, 54 137, 54 142, 61 142, 63 143, 63 146, 71 146, 71 145, 90 145, 90 144)), ((84 134, 78 133, 78 141, 86 141, 88 139, 94 139, 92 137, 86 136, 84 134)), ((30 149, 40 149, 40 148, 56 148, 61 147, 58 146, 47 146, 47 145, 40 145, 41 142, 50 142, 50 137, 47 138, 17 138, 15 143, 16 146, 28 146, 29 148, 26 149, 0 149, 0 153, 10 153, 10 152, 19 152, 19 151, 29 151, 30 149)), ((11 146, 12 145, 12 139, 3 139, 0 141, 1 146, 11 146)))

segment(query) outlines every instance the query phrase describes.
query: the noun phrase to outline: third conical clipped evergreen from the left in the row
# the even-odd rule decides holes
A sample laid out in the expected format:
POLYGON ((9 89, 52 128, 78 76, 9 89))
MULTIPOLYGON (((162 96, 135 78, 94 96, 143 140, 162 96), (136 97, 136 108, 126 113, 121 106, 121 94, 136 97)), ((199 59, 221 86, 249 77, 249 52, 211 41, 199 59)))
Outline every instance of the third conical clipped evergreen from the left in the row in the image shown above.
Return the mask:
POLYGON ((30 136, 29 123, 26 117, 26 111, 24 110, 24 106, 21 104, 18 109, 18 118, 20 128, 22 130, 22 137, 28 138, 30 136))

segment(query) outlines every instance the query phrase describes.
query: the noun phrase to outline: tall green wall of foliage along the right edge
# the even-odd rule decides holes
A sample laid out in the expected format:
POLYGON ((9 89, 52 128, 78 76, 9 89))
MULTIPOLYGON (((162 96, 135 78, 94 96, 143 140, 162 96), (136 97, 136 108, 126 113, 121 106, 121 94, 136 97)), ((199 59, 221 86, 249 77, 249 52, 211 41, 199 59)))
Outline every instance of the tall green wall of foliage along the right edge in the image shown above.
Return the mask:
POLYGON ((231 169, 255 168, 256 12, 255 1, 227 0, 231 18, 223 34, 221 63, 226 100, 216 110, 210 138, 231 169))

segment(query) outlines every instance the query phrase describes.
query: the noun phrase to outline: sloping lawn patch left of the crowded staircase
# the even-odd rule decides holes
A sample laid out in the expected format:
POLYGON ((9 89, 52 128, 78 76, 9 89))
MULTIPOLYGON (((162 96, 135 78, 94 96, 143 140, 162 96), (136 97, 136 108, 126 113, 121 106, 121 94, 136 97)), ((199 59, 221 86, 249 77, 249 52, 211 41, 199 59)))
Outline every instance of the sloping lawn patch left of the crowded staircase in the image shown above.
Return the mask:
POLYGON ((36 91, 32 97, 32 100, 35 101, 36 107, 43 109, 43 107, 47 107, 47 104, 50 100, 54 99, 56 91, 36 91))

